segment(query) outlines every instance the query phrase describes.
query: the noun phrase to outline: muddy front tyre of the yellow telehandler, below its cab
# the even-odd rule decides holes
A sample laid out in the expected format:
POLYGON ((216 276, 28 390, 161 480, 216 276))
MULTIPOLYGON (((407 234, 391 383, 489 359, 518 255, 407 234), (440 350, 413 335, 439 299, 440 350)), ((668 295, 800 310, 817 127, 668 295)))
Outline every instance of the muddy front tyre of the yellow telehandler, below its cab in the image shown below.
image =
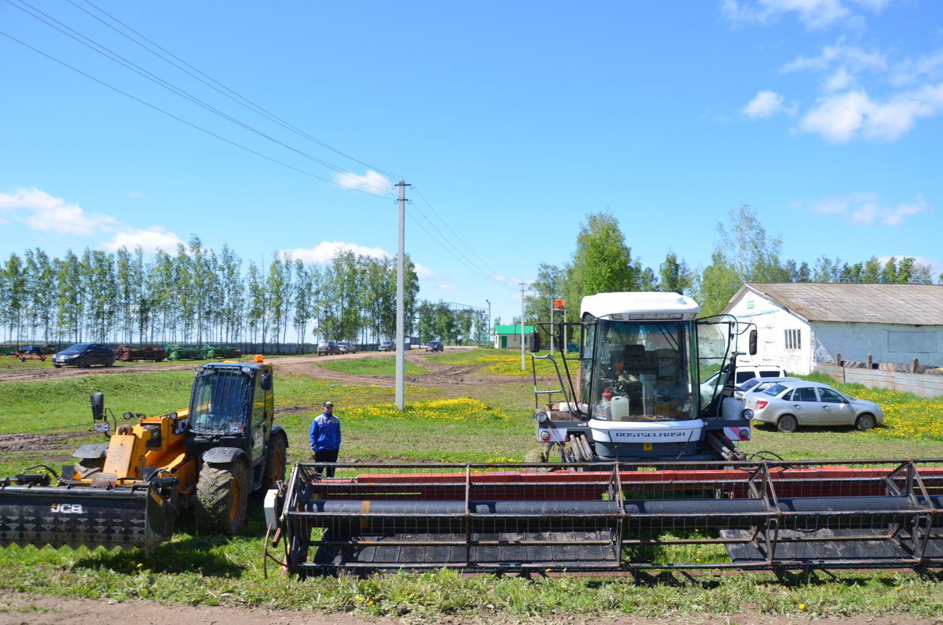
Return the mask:
POLYGON ((196 531, 235 536, 245 523, 251 490, 252 479, 243 463, 204 463, 196 482, 196 506, 193 508, 196 531))

